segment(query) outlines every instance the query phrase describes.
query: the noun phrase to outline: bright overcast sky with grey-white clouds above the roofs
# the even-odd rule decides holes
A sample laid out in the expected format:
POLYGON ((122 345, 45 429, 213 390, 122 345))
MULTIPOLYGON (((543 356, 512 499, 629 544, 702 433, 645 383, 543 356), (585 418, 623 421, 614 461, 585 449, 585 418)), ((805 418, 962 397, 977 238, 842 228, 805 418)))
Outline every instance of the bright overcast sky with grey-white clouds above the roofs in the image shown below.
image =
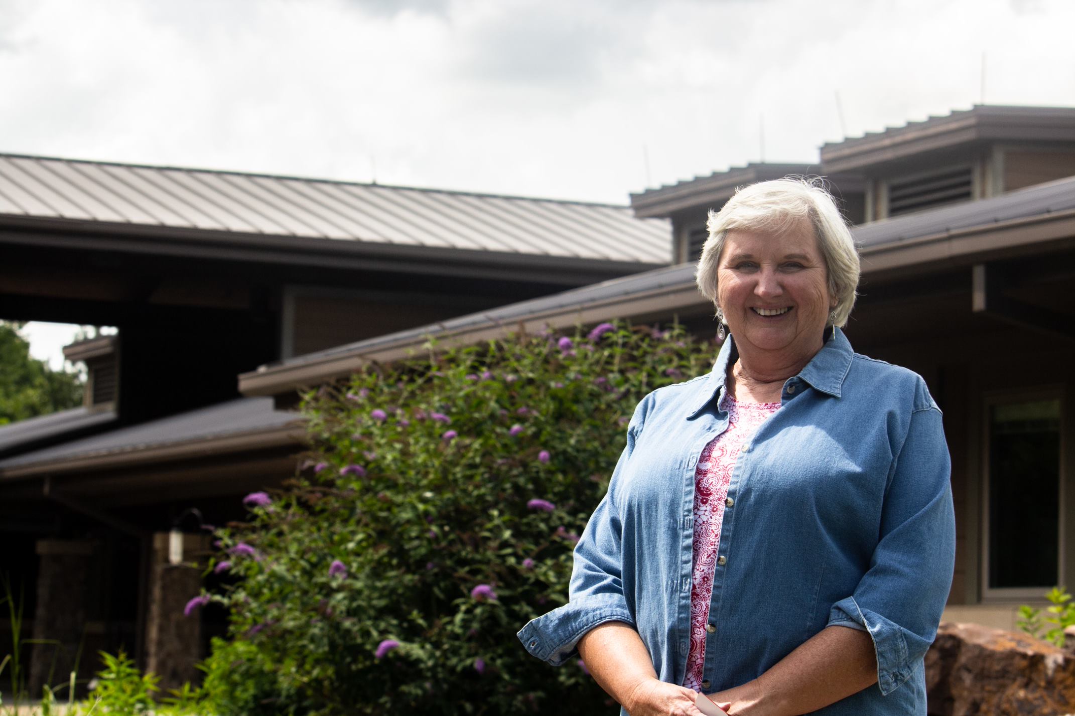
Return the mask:
POLYGON ((1075 105, 1072 28, 1072 0, 0 0, 0 152, 627 203, 1075 105))

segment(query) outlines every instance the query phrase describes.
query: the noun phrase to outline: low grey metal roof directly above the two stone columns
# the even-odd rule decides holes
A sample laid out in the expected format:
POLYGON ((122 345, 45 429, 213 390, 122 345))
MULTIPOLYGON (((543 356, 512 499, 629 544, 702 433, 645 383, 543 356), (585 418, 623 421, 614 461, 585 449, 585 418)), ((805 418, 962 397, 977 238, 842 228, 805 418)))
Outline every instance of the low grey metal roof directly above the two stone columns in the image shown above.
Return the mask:
POLYGON ((137 426, 0 460, 4 471, 27 464, 99 457, 296 425, 301 416, 273 409, 271 398, 238 398, 137 426))

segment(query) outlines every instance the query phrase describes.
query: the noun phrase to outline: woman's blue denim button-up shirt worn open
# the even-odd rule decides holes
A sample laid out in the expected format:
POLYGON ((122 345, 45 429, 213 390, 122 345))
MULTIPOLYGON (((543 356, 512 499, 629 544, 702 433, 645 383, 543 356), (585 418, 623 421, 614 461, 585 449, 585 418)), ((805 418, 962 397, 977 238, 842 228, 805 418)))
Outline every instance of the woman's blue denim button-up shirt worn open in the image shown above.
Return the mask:
MULTIPOLYGON (((713 372, 655 390, 575 548, 568 604, 518 636, 559 665, 606 621, 631 625, 660 679, 690 644, 694 468, 728 427, 732 341, 713 372)), ((710 601, 706 692, 770 669, 829 626, 865 630, 877 684, 816 713, 926 714, 923 656, 951 586, 956 528, 941 411, 917 374, 840 329, 784 384, 732 472, 710 601)), ((626 714, 626 711, 624 712, 626 714)))

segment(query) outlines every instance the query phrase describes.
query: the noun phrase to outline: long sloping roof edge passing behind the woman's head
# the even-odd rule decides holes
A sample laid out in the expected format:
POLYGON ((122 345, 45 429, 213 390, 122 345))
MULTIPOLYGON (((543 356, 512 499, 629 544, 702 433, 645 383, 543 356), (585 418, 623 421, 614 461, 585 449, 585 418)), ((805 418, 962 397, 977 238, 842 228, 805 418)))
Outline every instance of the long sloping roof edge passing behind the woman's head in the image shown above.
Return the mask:
MULTIPOLYGON (((872 253, 899 247, 903 243, 943 239, 949 232, 960 232, 973 227, 990 228, 1031 217, 1060 215, 1075 212, 1075 176, 1019 189, 1006 195, 979 201, 944 206, 919 214, 911 214, 893 219, 876 221, 851 230, 860 244, 864 258, 872 253)), ((869 263, 863 271, 871 270, 869 263)), ((264 381, 261 373, 276 374, 274 383, 285 381, 285 374, 292 372, 301 378, 293 385, 309 385, 318 364, 325 367, 326 378, 329 367, 344 367, 350 357, 373 357, 386 360, 402 355, 407 349, 420 345, 430 336, 476 335, 489 328, 514 329, 522 321, 545 321, 558 326, 588 320, 605 320, 630 315, 629 304, 653 306, 664 302, 669 312, 688 306, 704 306, 707 301, 694 286, 694 264, 680 263, 622 278, 615 278, 570 291, 546 296, 519 303, 460 316, 438 324, 421 326, 387 335, 367 339, 327 350, 297 356, 284 361, 262 366, 257 372, 240 376, 240 389, 247 390, 244 383, 264 381), (580 316, 586 318, 580 318, 580 316), (567 321, 567 323, 565 323, 567 321), (304 371, 303 369, 307 369, 304 371)), ((484 334, 483 334, 484 335, 484 334)), ((354 370, 354 368, 352 369, 354 370)), ((260 390, 258 390, 259 392, 260 390)))

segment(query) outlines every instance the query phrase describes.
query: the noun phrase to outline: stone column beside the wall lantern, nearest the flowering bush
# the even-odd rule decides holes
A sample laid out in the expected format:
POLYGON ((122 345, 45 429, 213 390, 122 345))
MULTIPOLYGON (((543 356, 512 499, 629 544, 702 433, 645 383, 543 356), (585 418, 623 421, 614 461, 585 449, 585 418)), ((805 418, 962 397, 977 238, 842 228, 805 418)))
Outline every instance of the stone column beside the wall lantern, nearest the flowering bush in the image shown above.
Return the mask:
POLYGON ((202 568, 198 560, 209 547, 201 534, 183 535, 183 562, 168 562, 168 532, 153 535, 149 567, 149 604, 145 622, 145 669, 160 676, 160 690, 197 683, 195 664, 201 658, 201 608, 183 613, 201 591, 202 568))

